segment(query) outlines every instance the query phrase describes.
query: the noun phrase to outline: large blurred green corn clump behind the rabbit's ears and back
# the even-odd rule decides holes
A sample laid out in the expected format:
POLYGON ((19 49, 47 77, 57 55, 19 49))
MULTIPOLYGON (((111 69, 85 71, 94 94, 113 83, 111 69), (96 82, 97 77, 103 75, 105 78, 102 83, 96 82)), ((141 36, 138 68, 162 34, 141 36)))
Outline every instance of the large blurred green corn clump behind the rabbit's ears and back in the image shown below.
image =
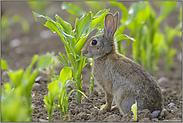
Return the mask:
MULTIPOLYGON (((127 28, 130 30, 130 36, 134 36, 136 40, 132 43, 134 61, 153 74, 165 44, 165 36, 160 31, 159 25, 175 9, 177 3, 162 2, 158 17, 148 1, 134 3, 129 9, 119 2, 110 3, 119 7, 123 13, 119 32, 123 32, 127 28)), ((128 45, 129 43, 127 43, 128 45)), ((118 49, 122 53, 120 44, 118 44, 118 49)))

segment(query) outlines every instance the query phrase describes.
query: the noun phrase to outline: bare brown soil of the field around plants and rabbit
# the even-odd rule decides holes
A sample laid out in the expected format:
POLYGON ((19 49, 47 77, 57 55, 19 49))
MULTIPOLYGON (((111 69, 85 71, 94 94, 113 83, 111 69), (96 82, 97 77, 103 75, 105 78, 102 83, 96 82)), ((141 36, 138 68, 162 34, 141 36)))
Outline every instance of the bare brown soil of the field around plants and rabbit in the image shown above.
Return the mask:
MULTIPOLYGON (((64 20, 67 19, 68 13, 60 9, 62 2, 51 2, 49 6, 54 6, 57 11, 54 11, 50 17, 54 18, 55 14, 61 16, 64 20)), ((129 7, 132 2, 124 2, 124 5, 129 7)), ((152 4, 155 6, 154 4, 152 4)), ((107 7, 111 8, 111 12, 114 13, 118 8, 106 4, 107 7)), ((23 16, 30 24, 30 32, 24 33, 20 24, 14 24, 11 26, 12 33, 1 41, 1 57, 5 59, 9 67, 13 70, 20 68, 26 68, 33 57, 34 54, 42 55, 47 52, 59 52, 65 53, 63 43, 61 42, 57 34, 52 33, 49 29, 43 26, 44 20, 35 21, 32 10, 26 2, 1 2, 2 14, 6 11, 9 12, 10 17, 19 14, 23 16), (45 31, 46 30, 46 31, 45 31), (42 37, 41 34, 46 33, 47 37, 42 37), (10 44, 14 39, 19 40, 19 45, 12 47, 10 44)), ((88 11, 88 8, 85 8, 88 11)), ((159 9, 155 7, 156 12, 159 9)), ((169 24, 171 27, 175 27, 178 24, 178 14, 179 7, 173 11, 163 23, 169 24)), ((163 25, 160 28, 164 30, 163 25)), ((128 31, 126 31, 128 34, 128 31)), ((164 96, 164 109, 162 111, 162 116, 160 118, 151 118, 151 114, 148 110, 143 110, 138 112, 138 121, 152 121, 152 122, 165 122, 165 121, 182 121, 182 71, 181 71, 181 47, 180 47, 180 37, 175 37, 173 41, 173 48, 177 49, 177 54, 174 56, 174 63, 169 72, 165 71, 163 58, 160 58, 158 64, 158 71, 156 79, 162 90, 164 96)), ((131 49, 129 48, 127 52, 127 57, 131 58, 131 49)), ((57 74, 63 68, 62 65, 56 68, 57 74)), ((90 94, 88 86, 90 85, 90 65, 87 64, 82 71, 83 77, 83 87, 82 92, 84 92, 87 98, 82 99, 82 103, 78 104, 76 100, 76 93, 72 93, 69 98, 68 103, 68 113, 67 121, 73 122, 120 122, 120 121, 133 121, 132 116, 129 114, 121 115, 118 109, 114 109, 110 112, 100 114, 97 108, 100 108, 105 104, 105 95, 103 91, 95 84, 94 91, 90 94)), ((48 121, 48 114, 45 110, 45 104, 43 101, 44 95, 47 94, 47 82, 46 75, 40 73, 41 79, 36 81, 36 85, 32 90, 32 104, 34 106, 34 111, 32 114, 32 121, 34 122, 46 122, 48 121)), ((1 70, 1 85, 8 82, 7 73, 1 70)), ((71 84, 68 87, 68 91, 75 89, 71 84)), ((115 104, 113 104, 115 105, 115 104)), ((59 111, 56 109, 52 116, 52 121, 60 121, 59 111)))

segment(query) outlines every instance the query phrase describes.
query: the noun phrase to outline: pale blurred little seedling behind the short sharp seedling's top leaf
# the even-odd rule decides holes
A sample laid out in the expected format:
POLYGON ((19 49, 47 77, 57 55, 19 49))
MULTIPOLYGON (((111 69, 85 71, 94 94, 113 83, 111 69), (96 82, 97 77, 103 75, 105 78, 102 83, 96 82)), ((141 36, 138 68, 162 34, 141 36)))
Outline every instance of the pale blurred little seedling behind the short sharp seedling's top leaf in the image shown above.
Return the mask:
POLYGON ((41 69, 40 72, 47 74, 47 81, 50 82, 51 78, 56 73, 55 68, 59 65, 59 61, 54 52, 47 54, 51 55, 51 63, 45 69, 41 69))

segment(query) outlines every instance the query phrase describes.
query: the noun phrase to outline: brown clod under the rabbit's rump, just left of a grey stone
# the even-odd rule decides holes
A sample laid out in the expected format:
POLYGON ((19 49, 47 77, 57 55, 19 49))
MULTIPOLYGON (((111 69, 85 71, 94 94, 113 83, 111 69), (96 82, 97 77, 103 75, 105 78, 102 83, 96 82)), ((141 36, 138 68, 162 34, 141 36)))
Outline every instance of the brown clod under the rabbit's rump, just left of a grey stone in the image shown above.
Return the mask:
POLYGON ((149 118, 152 119, 152 114, 148 109, 143 109, 142 111, 137 111, 137 116, 139 117, 139 119, 143 119, 143 118, 149 118))

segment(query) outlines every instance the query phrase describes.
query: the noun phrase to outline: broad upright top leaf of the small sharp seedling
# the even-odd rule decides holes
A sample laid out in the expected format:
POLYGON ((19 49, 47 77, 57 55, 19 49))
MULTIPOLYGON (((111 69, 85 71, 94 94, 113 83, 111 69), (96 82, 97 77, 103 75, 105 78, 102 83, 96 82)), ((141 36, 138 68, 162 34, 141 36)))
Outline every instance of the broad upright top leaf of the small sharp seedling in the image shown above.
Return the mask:
POLYGON ((72 77, 72 68, 64 67, 60 72, 59 81, 61 81, 63 84, 66 83, 68 79, 72 77))

